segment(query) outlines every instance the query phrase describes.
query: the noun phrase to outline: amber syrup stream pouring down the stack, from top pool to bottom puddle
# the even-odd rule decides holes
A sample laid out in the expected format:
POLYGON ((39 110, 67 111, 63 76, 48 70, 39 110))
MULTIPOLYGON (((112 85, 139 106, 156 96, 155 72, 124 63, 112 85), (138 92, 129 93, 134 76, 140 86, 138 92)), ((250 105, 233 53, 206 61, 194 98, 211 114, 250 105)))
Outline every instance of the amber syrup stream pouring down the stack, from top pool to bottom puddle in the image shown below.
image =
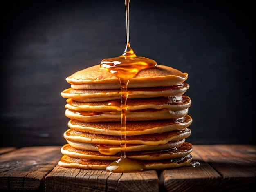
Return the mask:
POLYGON ((135 55, 130 47, 129 40, 129 4, 130 0, 125 0, 126 6, 126 49, 124 53, 115 58, 107 58, 101 61, 101 67, 107 69, 110 73, 119 78, 121 85, 121 157, 111 163, 106 170, 108 172, 136 172, 144 168, 140 161, 128 159, 126 157, 126 111, 129 80, 134 77, 140 70, 149 67, 156 67, 157 63, 149 58, 135 55))

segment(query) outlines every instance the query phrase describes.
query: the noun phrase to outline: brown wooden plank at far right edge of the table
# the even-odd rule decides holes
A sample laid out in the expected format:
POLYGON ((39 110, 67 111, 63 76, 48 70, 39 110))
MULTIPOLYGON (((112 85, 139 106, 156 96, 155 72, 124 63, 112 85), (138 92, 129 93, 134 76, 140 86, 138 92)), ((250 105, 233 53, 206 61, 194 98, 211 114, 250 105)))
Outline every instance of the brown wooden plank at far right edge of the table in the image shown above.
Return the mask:
POLYGON ((255 190, 256 146, 199 145, 195 150, 222 176, 218 191, 255 190))

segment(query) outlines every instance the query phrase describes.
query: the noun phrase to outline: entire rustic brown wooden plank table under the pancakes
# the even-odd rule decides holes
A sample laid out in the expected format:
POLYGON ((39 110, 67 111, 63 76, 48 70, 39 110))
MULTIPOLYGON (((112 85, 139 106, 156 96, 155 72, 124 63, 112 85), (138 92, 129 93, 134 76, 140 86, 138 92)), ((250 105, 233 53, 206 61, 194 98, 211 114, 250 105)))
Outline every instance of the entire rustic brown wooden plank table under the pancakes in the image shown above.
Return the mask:
POLYGON ((68 192, 254 191, 255 145, 194 145, 195 167, 137 173, 68 169, 58 146, 0 148, 0 190, 68 192))

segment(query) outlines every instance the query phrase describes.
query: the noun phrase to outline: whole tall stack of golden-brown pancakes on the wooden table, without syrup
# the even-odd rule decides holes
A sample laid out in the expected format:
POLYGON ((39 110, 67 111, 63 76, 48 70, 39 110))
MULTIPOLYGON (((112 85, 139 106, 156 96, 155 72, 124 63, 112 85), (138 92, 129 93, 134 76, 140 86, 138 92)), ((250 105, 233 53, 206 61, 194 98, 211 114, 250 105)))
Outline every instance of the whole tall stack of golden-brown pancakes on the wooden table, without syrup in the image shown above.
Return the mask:
MULTIPOLYGON (((143 69, 128 83, 126 156, 145 169, 191 162, 191 105, 184 92, 188 74, 168 66, 143 69)), ((119 79, 95 65, 67 77, 65 115, 70 118, 61 148, 62 167, 105 170, 120 157, 121 88, 119 79)))

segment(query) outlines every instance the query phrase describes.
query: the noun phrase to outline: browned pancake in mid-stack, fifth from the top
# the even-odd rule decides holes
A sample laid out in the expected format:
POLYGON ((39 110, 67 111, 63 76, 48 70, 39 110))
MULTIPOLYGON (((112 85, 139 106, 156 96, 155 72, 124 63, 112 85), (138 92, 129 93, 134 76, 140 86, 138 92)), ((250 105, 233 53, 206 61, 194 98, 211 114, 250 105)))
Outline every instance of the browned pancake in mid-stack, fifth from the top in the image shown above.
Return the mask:
MULTIPOLYGON (((192 118, 189 115, 178 119, 127 121, 126 136, 163 133, 189 127, 191 123, 192 118)), ((121 122, 85 123, 83 121, 70 120, 67 125, 69 128, 81 132, 105 135, 121 135, 121 122)))

